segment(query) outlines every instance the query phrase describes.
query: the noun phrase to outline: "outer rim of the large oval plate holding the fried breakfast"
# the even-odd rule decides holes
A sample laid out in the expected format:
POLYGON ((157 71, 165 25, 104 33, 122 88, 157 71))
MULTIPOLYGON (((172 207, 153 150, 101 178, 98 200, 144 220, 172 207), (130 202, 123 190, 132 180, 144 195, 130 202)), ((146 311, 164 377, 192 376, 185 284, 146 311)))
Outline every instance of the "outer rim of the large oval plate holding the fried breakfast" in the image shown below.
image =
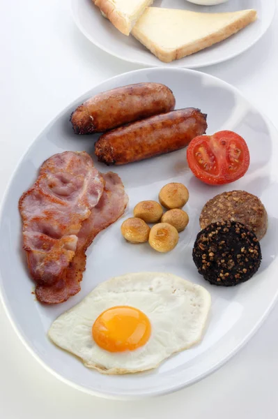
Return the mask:
MULTIPOLYGON (((204 75, 206 78, 209 78, 210 80, 214 80, 215 82, 218 82, 218 83, 220 82, 220 84, 222 84, 223 86, 226 86, 227 89, 231 89, 232 91, 235 92, 235 94, 237 94, 242 99, 244 99, 250 105, 250 107, 257 110, 260 113, 260 115, 263 117, 263 119, 265 119, 265 122, 267 122, 269 124, 270 128, 272 128, 272 130, 277 133, 277 137, 278 137, 278 130, 277 130, 276 126, 272 123, 272 121, 264 114, 263 111, 261 111, 260 108, 253 105, 252 101, 249 101, 249 98, 246 98, 238 88, 233 87, 232 84, 229 84, 228 82, 226 82, 226 81, 224 81, 220 78, 217 78, 214 75, 203 73, 201 71, 196 71, 196 70, 192 70, 192 69, 189 69, 189 68, 164 68, 164 67, 141 68, 139 70, 127 71, 125 73, 121 73, 120 75, 115 75, 111 78, 107 78, 106 80, 102 80, 102 82, 94 84, 91 87, 91 89, 94 89, 95 87, 100 87, 100 89, 101 89, 102 85, 106 84, 107 82, 111 82, 113 80, 116 80, 117 78, 122 78, 122 77, 124 78, 126 75, 130 75, 130 74, 134 74, 134 73, 137 73, 137 74, 138 73, 143 73, 144 74, 144 73, 148 73, 148 72, 161 72, 161 73, 163 73, 164 71, 174 72, 174 73, 175 72, 176 73, 184 73, 184 74, 188 74, 188 73, 189 74, 190 73, 196 74, 196 73, 198 73, 199 75, 204 75)), ((89 94, 91 89, 89 89, 88 91, 81 94, 79 96, 79 98, 82 98, 83 96, 86 96, 86 94, 89 94)), ((22 164, 22 161, 24 161, 26 155, 29 153, 29 151, 31 150, 31 147, 33 147, 34 143, 36 141, 38 141, 38 139, 40 138, 40 135, 42 135, 47 130, 47 128, 49 126, 54 124, 54 122, 56 122, 56 120, 58 120, 61 117, 61 115, 63 115, 65 110, 71 108, 72 105, 76 101, 78 101, 79 98, 75 98, 73 101, 70 102, 70 104, 65 105, 65 107, 58 113, 58 115, 56 115, 47 124, 45 124, 43 129, 38 133, 38 135, 36 135, 36 138, 34 138, 33 141, 31 142, 31 144, 29 144, 29 146, 26 148, 26 151, 24 152, 24 154, 22 154, 22 157, 17 162, 17 165, 15 166, 12 175, 10 175, 10 179, 9 179, 8 184, 6 185, 6 189, 3 193, 3 198, 1 200, 1 206, 0 206, 0 221, 3 218, 3 209, 4 209, 5 204, 6 204, 6 200, 7 200, 7 197, 8 197, 8 192, 10 191, 10 186, 13 183, 13 180, 15 179, 15 176, 16 176, 17 171, 19 170, 19 168, 22 164)), ((75 383, 74 381, 71 381, 68 378, 63 377, 61 374, 59 374, 59 372, 56 372, 54 369, 52 369, 52 367, 49 367, 49 365, 47 365, 47 363, 44 362, 43 359, 40 358, 40 355, 38 355, 38 353, 36 353, 35 349, 32 348, 31 346, 29 346, 29 343, 28 343, 27 339, 24 338, 24 333, 20 330, 20 327, 17 325, 16 318, 14 318, 14 316, 13 316, 13 310, 10 310, 9 307, 8 307, 9 306, 8 299, 6 298, 6 295, 5 295, 5 290, 4 290, 4 287, 3 287, 3 279, 1 277, 1 271, 0 271, 0 301, 3 304, 3 308, 4 308, 4 311, 6 312, 6 316, 8 317, 11 325, 13 326, 13 330, 15 330, 15 333, 16 333, 17 337, 20 338, 20 341, 22 341, 22 344, 24 344, 24 346, 29 351, 29 353, 31 353, 31 355, 33 355, 33 358, 35 358, 40 363, 40 365, 42 365, 49 373, 54 375, 56 378, 58 378, 63 383, 70 385, 70 387, 75 388, 75 389, 77 389, 79 391, 82 391, 82 392, 86 392, 87 394, 102 397, 102 398, 105 398, 105 399, 136 400, 136 399, 145 399, 145 398, 149 398, 149 397, 157 397, 157 396, 160 396, 160 395, 167 395, 167 394, 170 394, 172 392, 176 392, 178 390, 189 387, 190 385, 201 381, 203 378, 206 378, 210 374, 213 374, 214 372, 217 371, 217 369, 219 369, 224 364, 226 364, 226 362, 231 360, 231 358, 233 358, 233 356, 236 353, 238 353, 238 351, 240 351, 240 349, 243 348, 243 346, 245 346, 245 344, 247 344, 247 342, 255 335, 255 333, 258 331, 258 329, 261 327, 261 325, 263 325, 263 322, 265 321, 265 319, 270 314, 270 311, 272 311, 273 307, 275 307, 275 303, 277 302, 277 300, 278 300, 278 287, 277 287, 276 293, 272 296, 272 300, 271 300, 270 304, 268 305, 267 309, 265 309, 263 315, 254 324, 253 328, 251 330, 249 330, 249 333, 238 343, 237 346, 235 346, 229 353, 227 353, 226 356, 221 361, 217 362, 215 365, 208 368, 206 372, 203 372, 203 374, 199 374, 199 376, 197 376, 195 378, 192 378, 187 383, 181 383, 179 385, 172 385, 171 387, 169 387, 167 389, 152 390, 151 392, 140 392, 140 394, 137 394, 137 395, 135 395, 135 394, 129 395, 127 393, 125 393, 123 395, 119 395, 118 393, 115 393, 113 391, 92 390, 92 389, 88 389, 88 388, 86 388, 82 385, 79 385, 79 384, 75 383)))

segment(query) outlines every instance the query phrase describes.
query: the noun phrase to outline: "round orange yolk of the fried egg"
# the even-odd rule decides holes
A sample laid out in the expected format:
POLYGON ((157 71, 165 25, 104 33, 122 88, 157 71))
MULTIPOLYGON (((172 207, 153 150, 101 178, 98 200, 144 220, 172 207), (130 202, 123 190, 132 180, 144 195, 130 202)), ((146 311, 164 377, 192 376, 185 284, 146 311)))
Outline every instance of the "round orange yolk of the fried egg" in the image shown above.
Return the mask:
POLYGON ((134 351, 150 337, 150 321, 134 307, 117 306, 103 311, 93 323, 92 335, 100 348, 109 352, 134 351))

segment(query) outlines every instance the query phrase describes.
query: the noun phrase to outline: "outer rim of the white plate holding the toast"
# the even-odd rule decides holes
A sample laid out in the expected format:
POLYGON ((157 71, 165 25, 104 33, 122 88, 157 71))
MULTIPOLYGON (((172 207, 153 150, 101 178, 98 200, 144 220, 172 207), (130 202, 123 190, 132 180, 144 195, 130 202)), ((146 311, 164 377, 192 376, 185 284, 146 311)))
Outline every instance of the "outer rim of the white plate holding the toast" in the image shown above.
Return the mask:
MULTIPOLYGON (((146 63, 146 62, 137 60, 137 59, 128 59, 128 58, 122 57, 121 55, 117 54, 113 50, 109 50, 107 47, 103 47, 98 42, 98 40, 95 41, 91 37, 91 35, 86 31, 86 29, 84 29, 84 27, 82 26, 81 22, 79 21, 79 19, 77 17, 77 14, 75 13, 75 7, 77 7, 78 1, 79 0, 71 0, 71 2, 70 2, 70 11, 71 11, 72 19, 75 22, 75 25, 77 26, 77 28, 79 29, 79 31, 85 36, 85 38, 87 38, 88 41, 90 41, 91 43, 93 43, 93 45, 95 45, 96 47, 98 47, 100 50, 105 51, 107 54, 111 55, 112 57, 115 57, 117 59, 121 59, 122 61, 129 62, 129 63, 132 63, 132 64, 137 64, 137 65, 140 65, 140 66, 145 66, 145 67, 148 67, 148 68, 160 68, 160 67, 165 67, 165 68, 186 68, 187 70, 194 69, 194 68, 206 68, 208 66, 213 66, 213 65, 216 65, 216 64, 221 64, 221 63, 224 63, 225 61, 229 61, 229 60, 231 60, 231 59, 233 59, 235 57, 239 57, 241 54, 244 54, 247 50, 249 50, 252 47, 254 47, 254 45, 256 45, 256 43, 258 41, 260 41, 260 39, 266 34, 266 32, 268 31, 268 29, 270 29, 270 27, 271 27, 271 25, 273 23, 273 20, 275 18, 275 15, 277 13, 277 8, 278 8, 277 1, 273 0, 274 13, 273 13, 272 18, 270 20, 270 24, 268 25, 268 27, 266 27, 261 32, 261 34, 259 34, 256 38, 254 38, 252 40, 252 42, 247 47, 243 48, 239 52, 235 52, 235 53, 231 54, 227 58, 223 58, 222 59, 221 57, 219 57, 219 59, 208 61, 206 64, 201 64, 201 65, 199 65, 199 64, 193 64, 193 65, 187 66, 186 64, 180 64, 180 60, 176 60, 176 61, 172 61, 172 62, 176 63, 177 65, 175 67, 171 67, 171 66, 167 66, 167 63, 164 63, 162 61, 161 61, 161 64, 160 64, 160 62, 157 62, 157 64, 149 64, 149 63, 146 63)), ((183 58, 186 58, 186 57, 183 57, 183 58)), ((171 64, 171 63, 169 63, 169 64, 171 64)))

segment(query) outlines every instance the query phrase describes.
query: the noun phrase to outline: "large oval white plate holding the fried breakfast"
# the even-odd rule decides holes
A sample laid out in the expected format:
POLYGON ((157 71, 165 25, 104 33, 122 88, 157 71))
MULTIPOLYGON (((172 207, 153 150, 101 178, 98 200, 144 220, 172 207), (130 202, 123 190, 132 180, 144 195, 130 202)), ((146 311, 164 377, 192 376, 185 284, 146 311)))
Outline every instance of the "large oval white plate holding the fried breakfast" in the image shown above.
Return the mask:
POLYGON ((256 108, 226 82, 196 71, 149 68, 118 75, 102 82, 68 106, 41 133, 26 152, 10 182, 0 219, 1 295, 10 321, 31 353, 50 372, 66 383, 94 395, 146 397, 190 385, 215 371, 247 342, 261 325, 277 298, 277 161, 278 133, 256 108), (100 91, 137 82, 160 82, 172 89, 176 108, 193 106, 208 114, 208 133, 229 129, 247 141, 251 164, 247 174, 224 186, 208 186, 196 179, 182 149, 164 156, 107 168, 125 184, 130 203, 125 215, 100 233, 88 249, 82 291, 63 304, 45 307, 35 300, 33 282, 22 251, 22 222, 17 209, 23 191, 38 175, 38 169, 52 154, 65 150, 93 153, 97 135, 75 135, 69 122, 71 112, 86 98, 100 91), (128 244, 121 237, 121 223, 131 216, 140 200, 157 200, 168 182, 183 182, 190 191, 186 210, 190 224, 180 233, 178 246, 167 254, 148 244, 128 244), (259 196, 269 215, 268 233, 261 241, 263 262, 252 279, 236 287, 211 286, 199 275, 192 260, 192 247, 199 232, 199 214, 210 198, 222 191, 243 189, 259 196), (151 372, 105 376, 84 367, 77 358, 54 346, 47 338, 52 321, 81 301, 97 284, 127 272, 170 272, 206 287, 212 297, 208 329, 201 344, 173 355, 151 372))

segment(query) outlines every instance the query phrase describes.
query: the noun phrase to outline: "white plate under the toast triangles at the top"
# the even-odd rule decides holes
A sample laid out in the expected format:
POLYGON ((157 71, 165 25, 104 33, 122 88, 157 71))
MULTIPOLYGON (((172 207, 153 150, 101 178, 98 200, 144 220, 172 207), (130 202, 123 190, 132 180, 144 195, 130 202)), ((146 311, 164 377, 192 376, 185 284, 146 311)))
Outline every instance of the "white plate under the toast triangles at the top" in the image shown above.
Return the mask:
POLYGON ((205 13, 230 12, 254 8, 258 20, 222 43, 189 57, 165 64, 147 50, 132 35, 121 34, 93 4, 92 0, 72 0, 72 13, 80 31, 95 45, 115 57, 144 66, 198 68, 236 57, 254 45, 270 27, 275 15, 276 0, 229 0, 218 6, 196 6, 185 0, 155 0, 153 6, 178 8, 205 13))

